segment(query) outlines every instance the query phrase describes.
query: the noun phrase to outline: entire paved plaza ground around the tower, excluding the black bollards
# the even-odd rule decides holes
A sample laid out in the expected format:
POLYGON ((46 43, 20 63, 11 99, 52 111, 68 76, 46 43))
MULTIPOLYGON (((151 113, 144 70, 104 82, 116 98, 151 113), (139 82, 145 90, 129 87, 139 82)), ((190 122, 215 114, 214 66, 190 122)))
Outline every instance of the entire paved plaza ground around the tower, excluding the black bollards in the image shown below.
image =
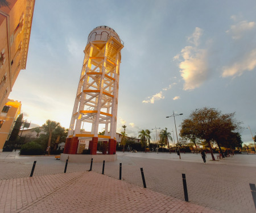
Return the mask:
MULTIPOLYGON (((0 212, 255 212, 256 154, 203 164, 200 154, 122 153, 118 160, 68 164, 54 156, 0 154, 0 212), (33 177, 29 177, 36 160, 33 177), (122 181, 119 163, 122 162, 122 181), (143 188, 140 168, 147 189, 143 188), (181 174, 186 174, 184 201, 181 174)), ((217 157, 216 157, 217 158, 217 157)))

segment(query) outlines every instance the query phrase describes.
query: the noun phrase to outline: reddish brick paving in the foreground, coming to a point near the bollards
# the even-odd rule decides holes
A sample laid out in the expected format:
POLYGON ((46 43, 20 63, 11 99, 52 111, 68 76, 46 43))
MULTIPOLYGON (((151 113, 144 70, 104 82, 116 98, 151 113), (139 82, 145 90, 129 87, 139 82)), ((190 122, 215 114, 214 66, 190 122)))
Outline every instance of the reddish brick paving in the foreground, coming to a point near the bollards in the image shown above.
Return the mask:
POLYGON ((0 181, 0 212, 216 212, 95 172, 0 181))

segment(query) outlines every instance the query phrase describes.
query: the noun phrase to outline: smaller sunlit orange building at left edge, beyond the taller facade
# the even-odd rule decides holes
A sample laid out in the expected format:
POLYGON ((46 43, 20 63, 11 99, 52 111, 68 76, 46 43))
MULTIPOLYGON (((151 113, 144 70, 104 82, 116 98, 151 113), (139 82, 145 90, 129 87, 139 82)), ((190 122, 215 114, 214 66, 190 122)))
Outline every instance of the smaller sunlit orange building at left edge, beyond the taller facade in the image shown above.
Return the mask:
POLYGON ((9 139, 13 130, 15 120, 20 114, 21 103, 7 99, 5 106, 0 114, 0 152, 3 151, 5 141, 9 139))

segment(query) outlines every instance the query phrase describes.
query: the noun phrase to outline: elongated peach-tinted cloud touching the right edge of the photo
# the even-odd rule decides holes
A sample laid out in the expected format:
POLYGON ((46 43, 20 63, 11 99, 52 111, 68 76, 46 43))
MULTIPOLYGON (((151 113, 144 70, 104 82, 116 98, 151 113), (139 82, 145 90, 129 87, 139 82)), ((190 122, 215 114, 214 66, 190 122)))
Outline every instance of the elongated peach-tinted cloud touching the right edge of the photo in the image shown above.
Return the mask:
POLYGON ((251 71, 256 67, 256 49, 247 53, 240 61, 230 66, 224 66, 222 77, 241 76, 245 71, 251 71))

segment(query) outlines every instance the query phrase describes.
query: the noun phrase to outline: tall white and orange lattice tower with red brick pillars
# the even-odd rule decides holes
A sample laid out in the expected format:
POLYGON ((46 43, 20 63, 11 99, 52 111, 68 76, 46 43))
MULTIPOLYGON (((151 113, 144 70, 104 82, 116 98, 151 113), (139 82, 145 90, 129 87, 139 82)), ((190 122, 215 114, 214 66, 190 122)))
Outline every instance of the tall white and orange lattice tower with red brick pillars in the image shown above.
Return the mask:
POLYGON ((90 32, 64 153, 76 154, 82 144, 89 143, 90 154, 96 154, 101 140, 108 144, 108 154, 115 154, 123 47, 118 34, 108 26, 90 32), (104 135, 98 133, 102 130, 104 135))

